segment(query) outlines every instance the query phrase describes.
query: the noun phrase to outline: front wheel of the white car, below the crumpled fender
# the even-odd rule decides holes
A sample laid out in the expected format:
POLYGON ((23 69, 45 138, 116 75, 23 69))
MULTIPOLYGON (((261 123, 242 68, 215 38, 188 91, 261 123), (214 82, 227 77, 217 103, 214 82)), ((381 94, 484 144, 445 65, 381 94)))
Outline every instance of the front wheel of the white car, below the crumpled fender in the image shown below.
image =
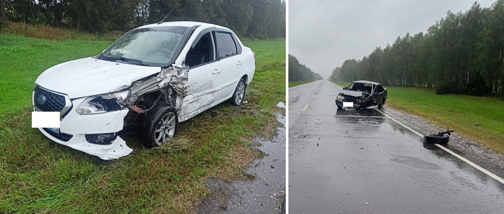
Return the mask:
POLYGON ((158 147, 173 138, 178 127, 178 115, 173 106, 158 104, 144 119, 142 144, 147 148, 158 147))

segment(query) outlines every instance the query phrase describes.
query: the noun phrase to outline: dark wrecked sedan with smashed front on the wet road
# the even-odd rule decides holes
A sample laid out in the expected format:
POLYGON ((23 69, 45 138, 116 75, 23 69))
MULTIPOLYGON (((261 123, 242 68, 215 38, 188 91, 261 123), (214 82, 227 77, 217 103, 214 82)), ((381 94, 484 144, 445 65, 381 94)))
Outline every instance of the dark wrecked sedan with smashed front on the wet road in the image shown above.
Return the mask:
POLYGON ((364 109, 370 106, 381 108, 387 101, 387 89, 380 83, 355 81, 336 96, 336 106, 364 109))

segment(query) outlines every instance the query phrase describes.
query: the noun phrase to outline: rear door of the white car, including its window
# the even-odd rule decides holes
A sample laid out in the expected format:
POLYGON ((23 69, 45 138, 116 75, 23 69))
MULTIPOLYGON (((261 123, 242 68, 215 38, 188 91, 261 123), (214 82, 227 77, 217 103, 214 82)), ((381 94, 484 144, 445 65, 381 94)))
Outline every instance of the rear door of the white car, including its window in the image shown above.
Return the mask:
POLYGON ((241 46, 233 33, 224 30, 214 32, 217 47, 217 59, 220 61, 221 70, 214 73, 214 81, 218 85, 216 102, 220 103, 229 99, 240 79, 243 58, 241 46))

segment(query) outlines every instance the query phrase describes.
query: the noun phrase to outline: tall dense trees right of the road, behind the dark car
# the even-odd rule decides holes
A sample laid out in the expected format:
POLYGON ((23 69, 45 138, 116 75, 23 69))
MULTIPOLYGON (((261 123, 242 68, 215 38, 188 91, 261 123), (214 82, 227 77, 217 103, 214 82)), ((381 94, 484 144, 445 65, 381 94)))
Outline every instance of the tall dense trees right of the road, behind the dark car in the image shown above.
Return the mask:
POLYGON ((408 33, 362 59, 344 61, 330 79, 504 98, 503 40, 504 0, 490 8, 474 3, 465 13, 448 11, 425 34, 408 33))

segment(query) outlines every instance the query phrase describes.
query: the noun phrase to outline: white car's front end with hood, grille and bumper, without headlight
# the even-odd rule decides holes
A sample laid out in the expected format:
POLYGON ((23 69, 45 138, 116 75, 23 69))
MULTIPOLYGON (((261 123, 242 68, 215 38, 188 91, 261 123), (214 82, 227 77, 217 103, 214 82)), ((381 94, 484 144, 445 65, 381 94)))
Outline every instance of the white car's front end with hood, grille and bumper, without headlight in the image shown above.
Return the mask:
POLYGON ((35 111, 59 111, 60 128, 39 128, 49 139, 103 160, 117 159, 133 150, 118 136, 129 109, 85 113, 85 101, 103 94, 124 91, 130 84, 159 72, 159 68, 83 58, 55 65, 35 84, 35 111), (96 78, 100 77, 100 78, 96 78), (38 96, 45 102, 38 103, 38 96), (80 113, 78 113, 80 112, 80 113), (86 138, 87 137, 87 138, 86 138), (93 141, 94 142, 90 142, 93 141), (101 141, 100 141, 101 139, 101 141))

